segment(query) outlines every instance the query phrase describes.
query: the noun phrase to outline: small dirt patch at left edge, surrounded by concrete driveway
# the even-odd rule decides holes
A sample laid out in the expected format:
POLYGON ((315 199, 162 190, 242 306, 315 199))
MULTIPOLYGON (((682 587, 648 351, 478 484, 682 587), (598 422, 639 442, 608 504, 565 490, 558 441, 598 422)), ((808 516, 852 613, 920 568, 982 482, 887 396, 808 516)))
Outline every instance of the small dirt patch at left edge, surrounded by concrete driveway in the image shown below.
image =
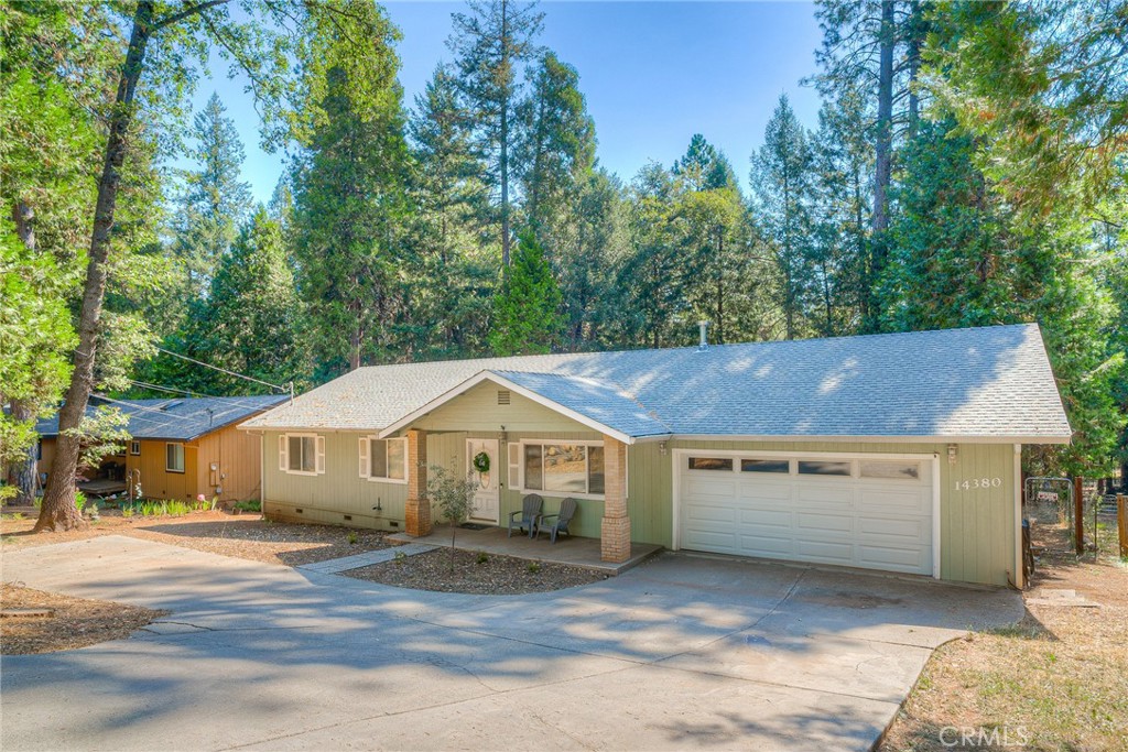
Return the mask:
POLYGON ((50 616, 0 618, 0 655, 73 651, 87 645, 129 637, 167 611, 135 605, 69 598, 17 584, 0 584, 5 612, 49 609, 50 616))

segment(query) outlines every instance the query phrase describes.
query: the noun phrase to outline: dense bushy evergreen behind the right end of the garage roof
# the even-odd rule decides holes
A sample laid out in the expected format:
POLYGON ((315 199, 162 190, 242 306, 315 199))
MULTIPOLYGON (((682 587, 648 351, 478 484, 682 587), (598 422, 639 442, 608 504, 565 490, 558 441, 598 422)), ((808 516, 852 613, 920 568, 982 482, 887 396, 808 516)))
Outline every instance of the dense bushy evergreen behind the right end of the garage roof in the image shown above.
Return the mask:
POLYGON ((1039 470, 1108 468, 1119 416, 1117 371, 1102 335, 1116 309, 1090 273, 1092 236, 1067 214, 1031 223, 992 191, 976 145, 952 121, 922 123, 906 152, 893 254, 881 286, 885 328, 919 330, 1038 321, 1074 441, 1038 448, 1039 470), (1082 262, 1082 263, 1078 263, 1082 262))

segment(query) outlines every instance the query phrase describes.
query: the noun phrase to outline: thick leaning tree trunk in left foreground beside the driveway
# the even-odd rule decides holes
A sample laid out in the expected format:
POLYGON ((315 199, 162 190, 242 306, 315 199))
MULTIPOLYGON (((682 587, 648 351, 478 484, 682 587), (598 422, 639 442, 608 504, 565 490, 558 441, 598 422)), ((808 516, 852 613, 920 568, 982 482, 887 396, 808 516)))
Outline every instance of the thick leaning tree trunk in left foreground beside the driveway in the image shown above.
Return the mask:
POLYGON ((109 256, 114 229, 114 211, 121 169, 125 161, 126 138, 133 121, 133 95, 144 62, 146 46, 155 30, 152 0, 140 0, 133 15, 133 30, 122 64, 117 95, 109 115, 109 134, 106 139, 106 160, 98 180, 98 201, 94 212, 94 231, 90 237, 90 260, 87 265, 82 309, 79 313, 79 345, 74 351, 74 371, 71 373, 67 402, 59 412, 59 439, 55 459, 43 496, 35 531, 70 530, 82 527, 82 515, 74 506, 74 475, 78 471, 79 437, 69 432, 77 428, 86 415, 86 406, 94 388, 94 356, 102 319, 102 303, 106 293, 106 259, 109 256))

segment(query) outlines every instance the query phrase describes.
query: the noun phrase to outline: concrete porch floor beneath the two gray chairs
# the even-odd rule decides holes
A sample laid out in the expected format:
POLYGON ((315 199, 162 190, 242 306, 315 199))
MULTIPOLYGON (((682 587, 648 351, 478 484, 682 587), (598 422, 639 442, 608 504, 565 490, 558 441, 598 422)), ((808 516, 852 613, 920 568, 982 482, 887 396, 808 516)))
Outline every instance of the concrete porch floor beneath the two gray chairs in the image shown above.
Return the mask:
MULTIPOLYGON (((607 575, 617 575, 662 550, 661 546, 651 543, 631 543, 631 552, 623 561, 605 561, 598 538, 580 538, 562 536, 555 543, 548 541, 545 534, 536 539, 517 532, 510 538, 503 528, 485 527, 481 530, 459 528, 455 536, 455 548, 464 551, 485 551, 497 556, 512 556, 532 561, 549 564, 567 564, 574 567, 594 569, 607 575)), ((439 524, 425 536, 409 536, 406 532, 388 536, 394 543, 430 543, 431 546, 450 546, 450 525, 439 524)))

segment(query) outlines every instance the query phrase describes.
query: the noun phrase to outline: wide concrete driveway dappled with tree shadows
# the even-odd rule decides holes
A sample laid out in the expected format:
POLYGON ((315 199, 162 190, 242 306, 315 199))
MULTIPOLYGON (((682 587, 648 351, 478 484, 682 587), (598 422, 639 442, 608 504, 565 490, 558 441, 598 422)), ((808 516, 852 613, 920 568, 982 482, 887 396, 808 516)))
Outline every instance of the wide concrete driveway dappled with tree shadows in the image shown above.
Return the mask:
POLYGON ((5 750, 867 750, 929 653, 1015 593, 668 554, 602 583, 449 595, 125 537, 3 578, 168 609, 2 663, 5 750))

